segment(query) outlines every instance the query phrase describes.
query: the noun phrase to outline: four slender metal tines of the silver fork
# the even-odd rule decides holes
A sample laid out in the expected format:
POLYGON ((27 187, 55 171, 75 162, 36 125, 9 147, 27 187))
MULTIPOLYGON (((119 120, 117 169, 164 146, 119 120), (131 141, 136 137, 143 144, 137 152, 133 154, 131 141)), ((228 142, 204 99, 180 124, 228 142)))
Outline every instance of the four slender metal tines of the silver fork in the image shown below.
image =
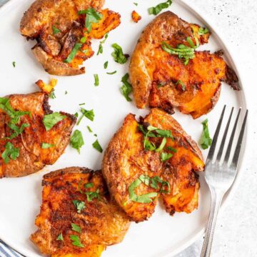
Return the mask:
MULTIPOLYGON (((218 135, 221 131, 221 125, 222 125, 222 121, 223 121, 223 116, 225 114, 225 110, 226 110, 226 106, 223 107, 223 111, 221 113, 221 118, 219 119, 218 121, 218 126, 217 126, 217 129, 216 129, 216 132, 214 134, 214 137, 213 137, 213 142, 211 144, 211 148, 210 148, 210 151, 208 153, 208 157, 207 157, 207 161, 206 161, 206 165, 208 162, 213 162, 213 156, 214 156, 214 153, 215 153, 215 150, 216 150, 216 144, 217 144, 217 141, 218 141, 218 135)), ((229 126, 231 124, 231 118, 233 116, 233 110, 234 108, 231 109, 231 114, 228 118, 228 122, 226 124, 226 129, 223 133, 223 138, 221 140, 221 146, 218 150, 218 154, 217 154, 217 157, 216 157, 216 162, 218 161, 220 164, 221 164, 221 156, 223 155, 223 150, 224 150, 224 146, 225 146, 225 143, 226 143, 226 138, 228 136, 228 129, 229 129, 229 126)), ((238 111, 238 114, 236 116, 236 121, 235 121, 235 124, 233 126, 233 130, 231 132, 231 136, 230 136, 230 139, 229 139, 229 142, 228 142, 228 146, 227 146, 227 149, 226 149, 226 155, 223 159, 223 164, 226 164, 228 166, 228 161, 231 157, 231 150, 232 150, 232 146, 233 146, 233 141, 234 141, 234 138, 235 138, 235 133, 236 133, 236 128, 238 126, 238 120, 239 120, 239 116, 241 114, 241 108, 239 109, 238 111)), ((238 136, 238 141, 237 141, 237 144, 236 144, 236 149, 233 153, 233 158, 232 158, 232 161, 231 161, 231 164, 230 166, 233 166, 234 168, 237 167, 238 165, 238 159, 239 159, 239 155, 240 155, 240 151, 241 151, 241 146, 242 146, 242 142, 243 142, 243 134, 244 134, 244 131, 246 129, 246 121, 247 121, 247 116, 248 116, 248 110, 246 110, 246 115, 243 119, 243 124, 241 126, 241 131, 240 131, 240 134, 238 136)))

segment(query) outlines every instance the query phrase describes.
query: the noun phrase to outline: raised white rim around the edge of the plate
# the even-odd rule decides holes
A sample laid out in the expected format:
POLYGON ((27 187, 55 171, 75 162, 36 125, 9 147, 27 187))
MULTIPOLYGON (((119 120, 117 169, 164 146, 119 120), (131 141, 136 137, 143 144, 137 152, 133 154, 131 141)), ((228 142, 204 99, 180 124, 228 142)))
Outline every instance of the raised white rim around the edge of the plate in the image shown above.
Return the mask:
MULTIPOLYGON (((9 0, 9 1, 7 1, 4 5, 0 6, 0 14, 4 13, 5 11, 8 11, 9 7, 11 7, 13 4, 15 4, 16 1, 21 2, 21 1, 27 1, 27 0, 9 0)), ((222 49, 225 50, 226 56, 229 57, 230 64, 233 65, 233 69, 236 71, 241 89, 243 91, 243 104, 244 104, 244 107, 246 109, 248 109, 248 103, 246 101, 246 99, 248 98, 247 97, 248 91, 246 91, 246 87, 243 86, 243 81, 245 81, 245 79, 243 79, 243 74, 241 73, 241 69, 239 68, 240 67, 239 61, 236 57, 236 54, 234 54, 233 46, 231 46, 231 44, 228 41, 223 39, 223 36, 221 36, 221 30, 218 27, 213 26, 214 21, 212 19, 206 18, 207 15, 203 14, 203 11, 201 11, 200 8, 198 8, 197 6, 193 6, 193 4, 191 4, 190 1, 187 2, 187 0, 173 0, 173 1, 175 1, 178 4, 181 4, 181 6, 188 9, 188 11, 190 11, 194 16, 198 17, 198 19, 200 19, 201 21, 204 21, 204 24, 209 29, 211 29, 211 31, 213 31, 216 34, 219 44, 222 45, 222 49)), ((248 126, 248 124, 249 124, 249 119, 246 124, 246 133, 245 133, 245 138, 243 140, 243 148, 241 149, 241 157, 240 157, 240 161, 239 161, 238 171, 236 173, 236 178, 233 181, 231 188, 229 188, 228 192, 226 193, 226 198, 222 201, 221 211, 223 211, 223 209, 226 207, 231 196, 233 196, 233 194, 235 193, 236 188, 238 188, 238 183, 241 181, 242 170, 246 166, 246 156, 248 153, 248 148, 246 148, 246 146, 248 145, 248 141, 249 141, 249 126, 248 126)), ((206 223, 207 223, 207 221, 206 221, 206 223)), ((184 243, 181 243, 181 245, 177 246, 175 249, 173 249, 172 252, 161 253, 162 254, 161 256, 173 257, 173 256, 176 256, 178 253, 181 253, 181 251, 183 251, 186 248, 188 248, 189 246, 191 246, 201 236, 204 236, 205 227, 206 226, 204 226, 203 228, 199 228, 197 233, 195 233, 193 236, 190 236, 187 241, 185 241, 184 243)), ((16 244, 14 242, 5 241, 3 239, 3 237, 1 237, 1 235, 0 235, 0 240, 3 241, 4 243, 6 243, 7 246, 10 246, 12 249, 14 249, 14 251, 16 251, 17 253, 20 253, 21 255, 26 256, 26 253, 27 253, 26 250, 23 250, 23 249, 16 250, 19 247, 18 246, 16 247, 15 246, 16 244)), ((168 249, 166 249, 166 251, 168 251, 168 249)))

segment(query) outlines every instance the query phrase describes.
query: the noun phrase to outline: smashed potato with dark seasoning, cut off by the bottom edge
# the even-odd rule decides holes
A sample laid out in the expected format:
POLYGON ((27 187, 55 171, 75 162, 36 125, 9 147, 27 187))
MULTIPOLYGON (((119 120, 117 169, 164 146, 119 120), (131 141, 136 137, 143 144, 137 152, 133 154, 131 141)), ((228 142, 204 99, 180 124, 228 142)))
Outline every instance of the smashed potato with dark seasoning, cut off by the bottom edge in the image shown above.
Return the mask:
POLYGON ((43 203, 36 218, 39 229, 31 235, 41 253, 96 257, 106 246, 123 240, 129 218, 109 197, 101 171, 64 168, 46 174, 42 185, 43 203))

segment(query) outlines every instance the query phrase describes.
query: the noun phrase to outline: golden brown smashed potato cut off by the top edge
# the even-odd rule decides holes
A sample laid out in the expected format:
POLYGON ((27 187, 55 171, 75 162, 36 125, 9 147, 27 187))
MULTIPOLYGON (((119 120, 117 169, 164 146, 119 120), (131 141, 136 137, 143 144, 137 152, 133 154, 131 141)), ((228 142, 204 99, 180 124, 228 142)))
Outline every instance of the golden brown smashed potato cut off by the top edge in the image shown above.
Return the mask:
POLYGON ((91 39, 103 38, 121 23, 120 15, 109 9, 101 10, 103 5, 104 0, 36 0, 26 11, 21 19, 21 34, 36 39, 32 51, 49 74, 85 73, 85 68, 79 66, 94 55, 91 39), (87 31, 86 15, 78 12, 91 8, 99 11, 102 19, 87 31), (74 49, 74 57, 67 61, 74 49))

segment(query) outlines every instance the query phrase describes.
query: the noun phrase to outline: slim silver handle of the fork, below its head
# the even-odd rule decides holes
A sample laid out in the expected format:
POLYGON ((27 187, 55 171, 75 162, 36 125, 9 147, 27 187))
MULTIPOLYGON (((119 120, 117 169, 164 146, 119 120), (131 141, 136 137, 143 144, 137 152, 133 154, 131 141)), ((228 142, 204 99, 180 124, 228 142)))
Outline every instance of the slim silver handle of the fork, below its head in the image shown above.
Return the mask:
POLYGON ((201 257, 211 256, 211 246, 213 242, 213 235, 218 216, 218 210, 221 206, 221 201, 224 196, 223 192, 216 191, 210 186, 211 191, 211 211, 208 219, 208 226, 206 228, 206 235, 203 241, 203 248, 201 250, 201 257))

